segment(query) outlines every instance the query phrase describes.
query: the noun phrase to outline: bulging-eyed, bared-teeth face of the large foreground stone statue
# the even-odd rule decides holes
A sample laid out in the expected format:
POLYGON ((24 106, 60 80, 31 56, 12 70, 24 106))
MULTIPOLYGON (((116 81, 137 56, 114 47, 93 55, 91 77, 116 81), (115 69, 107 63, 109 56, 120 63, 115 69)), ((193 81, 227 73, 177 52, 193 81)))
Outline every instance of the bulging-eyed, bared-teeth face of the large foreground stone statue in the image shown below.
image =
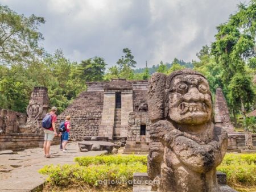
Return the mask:
POLYGON ((169 116, 179 124, 203 124, 212 114, 209 84, 199 75, 177 75, 169 94, 169 116))

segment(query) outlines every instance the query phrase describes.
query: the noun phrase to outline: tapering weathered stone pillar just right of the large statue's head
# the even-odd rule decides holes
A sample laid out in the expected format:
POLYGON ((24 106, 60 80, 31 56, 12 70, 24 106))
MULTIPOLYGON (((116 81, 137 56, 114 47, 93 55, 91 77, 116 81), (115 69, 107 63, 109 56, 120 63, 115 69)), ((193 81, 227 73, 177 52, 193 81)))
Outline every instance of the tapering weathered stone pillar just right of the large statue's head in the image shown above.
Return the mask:
POLYGON ((229 109, 221 88, 216 89, 214 102, 214 122, 228 132, 234 131, 234 126, 230 121, 229 109))

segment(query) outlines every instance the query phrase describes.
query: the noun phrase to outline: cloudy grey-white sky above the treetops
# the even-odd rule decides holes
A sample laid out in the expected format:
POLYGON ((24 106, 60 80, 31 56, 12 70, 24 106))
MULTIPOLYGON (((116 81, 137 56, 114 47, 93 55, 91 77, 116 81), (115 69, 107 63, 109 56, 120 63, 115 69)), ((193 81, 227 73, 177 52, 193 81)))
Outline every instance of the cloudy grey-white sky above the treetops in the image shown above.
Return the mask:
MULTIPOLYGON (((63 49, 72 61, 104 57, 112 66, 131 49, 137 68, 175 57, 196 59, 214 41, 216 26, 237 10, 238 0, 0 0, 19 14, 43 16, 47 52, 63 49)), ((242 1, 248 2, 248 1, 242 1)))

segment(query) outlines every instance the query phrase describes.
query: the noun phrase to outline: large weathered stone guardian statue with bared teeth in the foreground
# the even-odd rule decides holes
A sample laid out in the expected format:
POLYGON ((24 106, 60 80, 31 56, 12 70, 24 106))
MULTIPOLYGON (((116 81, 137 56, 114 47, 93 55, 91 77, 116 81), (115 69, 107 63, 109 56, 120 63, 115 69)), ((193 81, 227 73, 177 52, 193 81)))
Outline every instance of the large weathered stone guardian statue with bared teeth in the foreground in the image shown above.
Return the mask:
POLYGON ((213 124, 206 78, 183 69, 148 81, 150 151, 148 176, 158 191, 220 191, 216 167, 228 135, 213 124))

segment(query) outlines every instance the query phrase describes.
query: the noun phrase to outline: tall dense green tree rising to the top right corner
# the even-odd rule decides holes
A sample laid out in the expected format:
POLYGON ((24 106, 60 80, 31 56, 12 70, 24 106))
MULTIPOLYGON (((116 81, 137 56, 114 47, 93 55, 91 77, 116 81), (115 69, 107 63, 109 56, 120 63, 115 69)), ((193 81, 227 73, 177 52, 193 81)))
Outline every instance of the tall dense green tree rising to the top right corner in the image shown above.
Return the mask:
POLYGON ((244 121, 245 107, 255 98, 250 74, 256 56, 255 15, 255 0, 248 6, 241 3, 237 13, 217 27, 216 41, 212 43, 212 54, 223 69, 221 80, 229 93, 229 103, 233 110, 240 108, 244 121), (247 66, 251 68, 249 71, 247 66))

